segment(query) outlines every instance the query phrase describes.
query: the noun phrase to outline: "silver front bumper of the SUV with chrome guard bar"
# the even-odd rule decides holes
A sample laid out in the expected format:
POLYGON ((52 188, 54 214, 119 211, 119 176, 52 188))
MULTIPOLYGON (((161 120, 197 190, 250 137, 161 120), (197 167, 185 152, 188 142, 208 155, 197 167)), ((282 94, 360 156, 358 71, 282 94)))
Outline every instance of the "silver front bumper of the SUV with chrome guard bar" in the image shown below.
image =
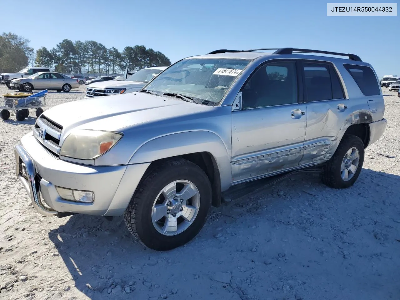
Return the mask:
POLYGON ((14 154, 16 176, 33 207, 44 216, 55 216, 57 212, 120 216, 150 165, 93 166, 66 162, 45 150, 32 134, 21 139, 14 154), (64 200, 56 186, 92 191, 94 202, 64 200))

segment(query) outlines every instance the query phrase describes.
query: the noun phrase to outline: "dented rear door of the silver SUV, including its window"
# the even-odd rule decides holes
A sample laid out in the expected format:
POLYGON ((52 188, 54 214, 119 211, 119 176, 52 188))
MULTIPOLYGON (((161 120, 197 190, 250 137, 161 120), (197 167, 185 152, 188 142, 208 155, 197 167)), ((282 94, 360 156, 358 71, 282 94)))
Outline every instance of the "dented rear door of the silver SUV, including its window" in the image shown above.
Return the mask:
POLYGON ((349 101, 331 62, 300 60, 307 104, 307 131, 300 165, 328 159, 327 153, 348 116, 349 101))

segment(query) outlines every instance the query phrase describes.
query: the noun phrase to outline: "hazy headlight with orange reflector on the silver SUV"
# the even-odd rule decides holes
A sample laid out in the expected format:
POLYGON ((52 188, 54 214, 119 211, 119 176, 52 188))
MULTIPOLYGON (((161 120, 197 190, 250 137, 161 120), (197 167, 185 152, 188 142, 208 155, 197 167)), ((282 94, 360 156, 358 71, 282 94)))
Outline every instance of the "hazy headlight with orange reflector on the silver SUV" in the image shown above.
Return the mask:
POLYGON ((61 146, 60 156, 92 160, 106 153, 122 138, 122 134, 98 130, 76 130, 61 146))

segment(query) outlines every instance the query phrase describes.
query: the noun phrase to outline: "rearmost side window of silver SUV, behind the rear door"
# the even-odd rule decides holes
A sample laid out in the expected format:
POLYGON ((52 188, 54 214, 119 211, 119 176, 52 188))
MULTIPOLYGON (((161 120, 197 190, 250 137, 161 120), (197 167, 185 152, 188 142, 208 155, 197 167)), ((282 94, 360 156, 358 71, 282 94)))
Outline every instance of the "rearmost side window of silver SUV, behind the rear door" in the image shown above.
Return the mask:
POLYGON ((380 95, 380 88, 374 71, 367 66, 343 64, 357 83, 364 96, 380 95))

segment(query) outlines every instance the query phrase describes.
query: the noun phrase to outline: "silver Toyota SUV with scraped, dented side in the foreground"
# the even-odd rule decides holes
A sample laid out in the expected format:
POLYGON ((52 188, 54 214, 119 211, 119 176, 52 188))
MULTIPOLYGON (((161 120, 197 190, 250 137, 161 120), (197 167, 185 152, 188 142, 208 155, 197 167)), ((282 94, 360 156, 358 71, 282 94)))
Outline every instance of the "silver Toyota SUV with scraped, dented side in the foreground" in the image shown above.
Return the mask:
POLYGON ((168 250, 243 182, 319 165, 328 186, 352 186, 386 128, 372 66, 353 54, 262 50, 185 58, 140 92, 46 110, 15 148, 34 208, 124 215, 140 242, 168 250))

